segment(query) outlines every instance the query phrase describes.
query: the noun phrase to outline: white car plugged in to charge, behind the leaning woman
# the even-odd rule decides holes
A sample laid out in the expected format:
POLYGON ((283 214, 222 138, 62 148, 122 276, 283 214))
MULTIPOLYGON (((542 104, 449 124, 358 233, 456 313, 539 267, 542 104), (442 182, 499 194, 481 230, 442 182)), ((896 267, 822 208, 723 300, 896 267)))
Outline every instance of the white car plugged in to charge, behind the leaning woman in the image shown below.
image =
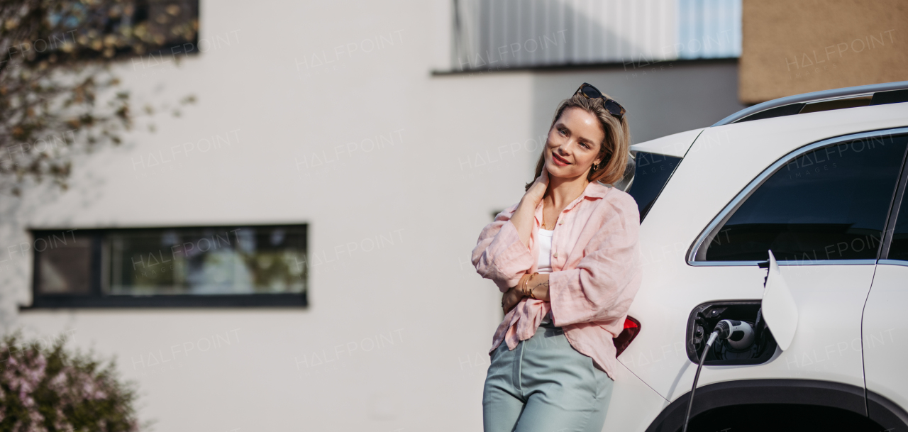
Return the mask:
POLYGON ((733 319, 754 342, 707 351, 688 430, 908 431, 906 149, 908 82, 633 145, 644 275, 604 430, 680 430, 733 319))

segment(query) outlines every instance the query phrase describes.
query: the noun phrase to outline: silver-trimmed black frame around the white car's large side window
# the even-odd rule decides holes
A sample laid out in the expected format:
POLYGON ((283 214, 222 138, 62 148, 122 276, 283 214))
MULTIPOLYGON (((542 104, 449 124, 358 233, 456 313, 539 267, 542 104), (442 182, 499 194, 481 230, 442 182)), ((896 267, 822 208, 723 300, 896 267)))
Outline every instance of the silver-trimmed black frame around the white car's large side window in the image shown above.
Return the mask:
MULTIPOLYGON (((894 128, 885 128, 878 129, 873 131, 864 131, 860 133, 847 133, 840 136, 834 136, 820 140, 818 142, 810 142, 804 144, 801 147, 788 152, 785 156, 779 158, 777 161, 773 162, 769 166, 765 167, 763 171, 758 174, 755 179, 751 182, 748 182, 747 185, 735 194, 735 198, 729 201, 723 207, 722 211, 719 211, 718 214, 706 225, 703 231, 697 235, 694 242, 691 243, 690 247, 686 253, 686 262, 687 265, 692 267, 716 267, 716 266, 752 266, 760 262, 765 262, 765 260, 736 260, 736 261, 720 261, 720 260, 696 260, 696 255, 701 248, 706 247, 706 241, 710 238, 710 234, 714 231, 721 229, 721 226, 724 226, 727 222, 727 219, 737 211, 738 207, 746 201, 753 191, 758 189, 763 183, 772 177, 775 172, 778 172, 782 169, 786 163, 795 160, 796 158, 803 156, 805 153, 813 152, 815 150, 828 147, 831 145, 836 145, 842 142, 857 141, 857 140, 873 140, 874 138, 880 137, 889 137, 894 139, 896 137, 903 137, 908 135, 908 127, 894 127, 894 128)), ((860 260, 814 260, 814 261, 804 261, 804 260, 777 260, 779 265, 842 265, 842 264, 873 264, 879 262, 882 257, 885 255, 883 251, 888 251, 888 247, 885 244, 886 236, 891 235, 889 231, 891 230, 891 220, 893 216, 893 205, 899 195, 900 191, 903 191, 903 178, 905 176, 906 163, 908 162, 908 149, 903 153, 901 171, 898 174, 896 179, 895 187, 893 188, 893 196, 890 198, 889 209, 883 220, 883 237, 881 239, 881 244, 877 249, 876 257, 874 259, 860 259, 860 260)))

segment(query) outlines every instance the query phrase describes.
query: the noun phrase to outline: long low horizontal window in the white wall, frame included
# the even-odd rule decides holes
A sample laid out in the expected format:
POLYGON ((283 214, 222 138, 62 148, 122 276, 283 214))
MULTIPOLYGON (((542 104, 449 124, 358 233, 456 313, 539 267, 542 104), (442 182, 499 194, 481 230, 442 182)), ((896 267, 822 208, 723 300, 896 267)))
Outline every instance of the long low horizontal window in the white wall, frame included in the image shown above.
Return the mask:
POLYGON ((306 305, 306 225, 33 238, 36 308, 306 305))

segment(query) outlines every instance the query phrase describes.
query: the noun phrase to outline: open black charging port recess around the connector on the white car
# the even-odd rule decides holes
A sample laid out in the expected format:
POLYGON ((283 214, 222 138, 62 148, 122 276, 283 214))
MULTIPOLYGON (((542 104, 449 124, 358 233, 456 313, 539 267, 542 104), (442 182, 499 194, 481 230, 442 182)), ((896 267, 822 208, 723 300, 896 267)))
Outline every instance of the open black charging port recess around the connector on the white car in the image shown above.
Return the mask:
POLYGON ((723 319, 744 321, 753 335, 733 333, 729 339, 716 340, 706 352, 705 365, 758 365, 772 358, 777 345, 760 314, 760 302, 759 299, 718 300, 697 306, 687 319, 687 358, 699 364, 706 338, 723 319))

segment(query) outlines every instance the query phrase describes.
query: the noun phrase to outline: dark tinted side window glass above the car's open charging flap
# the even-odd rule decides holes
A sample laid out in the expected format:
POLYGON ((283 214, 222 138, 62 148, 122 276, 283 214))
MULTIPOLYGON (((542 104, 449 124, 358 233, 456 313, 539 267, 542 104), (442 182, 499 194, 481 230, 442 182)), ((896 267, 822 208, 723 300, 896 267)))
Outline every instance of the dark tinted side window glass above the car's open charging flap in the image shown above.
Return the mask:
POLYGON ((906 142, 837 142, 785 162, 712 231, 696 260, 767 260, 767 250, 776 260, 875 260, 906 142))

